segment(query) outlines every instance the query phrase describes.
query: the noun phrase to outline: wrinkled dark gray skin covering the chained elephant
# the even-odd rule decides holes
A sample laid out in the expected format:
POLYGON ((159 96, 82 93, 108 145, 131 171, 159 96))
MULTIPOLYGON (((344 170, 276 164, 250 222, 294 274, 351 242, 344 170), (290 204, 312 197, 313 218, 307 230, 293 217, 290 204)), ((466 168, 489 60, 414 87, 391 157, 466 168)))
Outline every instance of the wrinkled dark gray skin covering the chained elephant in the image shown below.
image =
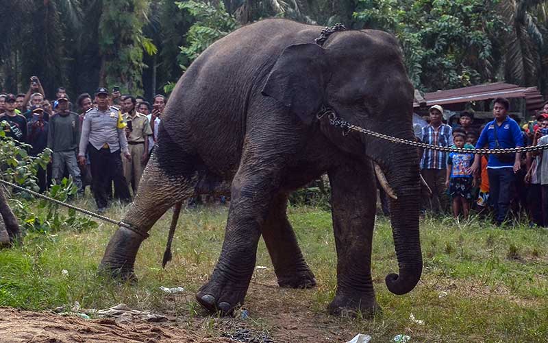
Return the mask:
MULTIPOLYGON (((420 279, 416 150, 358 133, 343 137, 326 117, 316 118, 326 104, 363 128, 413 139, 413 88, 398 43, 362 30, 336 32, 319 47, 321 29, 284 19, 242 27, 192 63, 166 106, 158 145, 123 221, 148 231, 197 188, 232 180, 221 256, 197 294, 210 311, 229 314, 243 302, 261 235, 280 286, 315 285, 286 206, 288 193, 326 171, 338 256, 329 311, 379 309, 371 281, 373 161, 397 194, 390 213, 399 275, 386 276, 386 285, 406 294, 420 279)), ((119 228, 101 269, 134 277, 141 241, 119 228)))

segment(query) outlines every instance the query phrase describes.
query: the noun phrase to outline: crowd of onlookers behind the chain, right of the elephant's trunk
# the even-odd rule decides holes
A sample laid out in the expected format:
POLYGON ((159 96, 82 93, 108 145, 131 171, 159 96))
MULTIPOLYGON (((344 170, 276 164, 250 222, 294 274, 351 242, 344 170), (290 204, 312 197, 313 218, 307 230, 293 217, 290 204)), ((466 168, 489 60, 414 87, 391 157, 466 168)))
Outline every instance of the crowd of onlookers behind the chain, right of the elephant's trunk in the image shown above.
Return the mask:
MULTIPOLYGON (((492 121, 475 126, 473 113, 464 111, 459 125, 451 127, 443 123, 442 106, 434 105, 416 139, 464 149, 548 143, 548 102, 521 127, 509 110, 508 99, 497 98, 492 121)), ((467 218, 475 209, 493 213, 497 226, 510 212, 526 211, 531 225, 548 226, 548 150, 486 155, 425 149, 421 154, 421 175, 430 189, 423 192, 423 211, 442 213, 450 207, 454 217, 467 218)))

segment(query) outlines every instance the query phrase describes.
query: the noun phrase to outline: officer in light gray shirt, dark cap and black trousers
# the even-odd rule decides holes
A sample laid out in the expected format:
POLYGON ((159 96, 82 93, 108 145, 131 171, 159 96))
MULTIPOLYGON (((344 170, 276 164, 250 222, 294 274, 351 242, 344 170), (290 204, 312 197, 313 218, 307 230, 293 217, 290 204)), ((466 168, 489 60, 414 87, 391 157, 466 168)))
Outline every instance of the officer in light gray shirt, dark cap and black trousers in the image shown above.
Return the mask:
POLYGON ((102 213, 108 205, 105 189, 110 180, 114 180, 114 188, 118 190, 121 200, 131 201, 123 175, 120 152, 129 161, 132 156, 127 150, 122 114, 118 108, 108 105, 106 88, 97 89, 95 101, 97 108, 90 108, 82 123, 78 161, 80 165, 85 165, 86 151, 89 152, 93 176, 93 197, 99 213, 102 213))

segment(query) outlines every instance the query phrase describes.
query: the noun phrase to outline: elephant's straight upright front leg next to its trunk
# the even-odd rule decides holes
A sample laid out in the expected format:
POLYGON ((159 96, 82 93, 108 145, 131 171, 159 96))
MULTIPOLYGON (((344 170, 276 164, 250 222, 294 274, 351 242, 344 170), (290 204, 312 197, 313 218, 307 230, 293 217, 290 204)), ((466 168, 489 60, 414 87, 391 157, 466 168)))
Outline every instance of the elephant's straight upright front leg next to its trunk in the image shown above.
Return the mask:
POLYGON ((371 280, 376 187, 371 163, 349 162, 329 171, 337 250, 337 290, 330 314, 380 310, 371 280))

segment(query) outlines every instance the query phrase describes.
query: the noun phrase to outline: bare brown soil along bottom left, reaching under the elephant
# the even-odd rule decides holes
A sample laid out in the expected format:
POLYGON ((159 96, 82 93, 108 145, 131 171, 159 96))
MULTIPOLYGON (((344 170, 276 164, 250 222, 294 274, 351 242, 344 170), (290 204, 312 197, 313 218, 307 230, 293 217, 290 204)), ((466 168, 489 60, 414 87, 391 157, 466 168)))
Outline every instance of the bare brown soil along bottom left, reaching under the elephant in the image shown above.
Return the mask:
MULTIPOLYGON (((310 291, 310 290, 309 290, 310 291)), ((60 316, 53 311, 32 312, 0 308, 0 341, 3 343, 73 343, 73 342, 346 342, 356 332, 349 321, 318 314, 310 308, 310 298, 304 293, 280 289, 275 281, 252 282, 247 306, 249 318, 208 316, 205 311, 198 316, 179 314, 169 309, 155 311, 169 318, 167 322, 134 321, 129 324, 110 318, 85 320, 77 316, 60 316), (285 294, 278 294, 277 292, 285 294), (289 300, 289 301, 288 301, 289 300), (242 336, 247 333, 248 339, 242 336), (227 337, 234 337, 231 340, 227 337), (238 337, 239 336, 239 337, 238 337)), ((169 302, 188 301, 190 294, 173 295, 169 302)))

